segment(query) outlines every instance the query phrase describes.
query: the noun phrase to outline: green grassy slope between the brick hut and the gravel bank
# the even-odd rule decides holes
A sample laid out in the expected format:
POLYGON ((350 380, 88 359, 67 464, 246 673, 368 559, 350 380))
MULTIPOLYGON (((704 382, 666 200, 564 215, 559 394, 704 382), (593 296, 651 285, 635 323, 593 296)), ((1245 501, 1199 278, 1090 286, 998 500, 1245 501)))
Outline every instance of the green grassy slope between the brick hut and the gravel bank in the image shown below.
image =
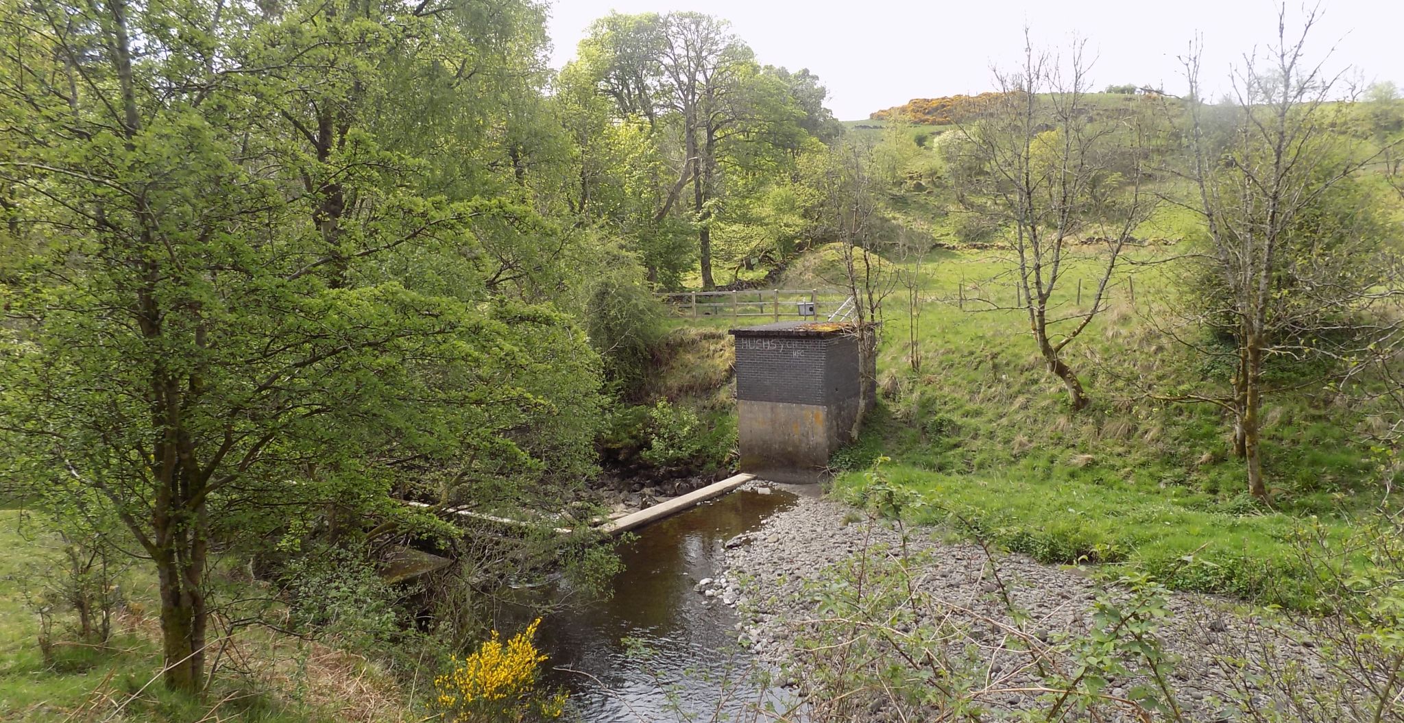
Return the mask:
MULTIPOLYGON (((1192 215, 1165 208, 1137 234, 1193 232, 1192 215)), ((1161 261, 1172 253, 1137 248, 1132 258, 1161 261)), ((813 251, 790 264, 783 284, 823 285, 837 272, 833 248, 813 251)), ((903 264, 914 271, 914 261, 903 264)), ((1081 275, 1090 305, 1098 264, 1097 251, 1075 251, 1056 302, 1075 306, 1081 275)), ((906 289, 887 298, 882 402, 861 439, 834 456, 837 491, 861 498, 872 482, 869 466, 886 456, 882 473, 917 496, 918 522, 980 533, 1046 563, 1132 564, 1182 590, 1311 605, 1314 592, 1299 574, 1297 529, 1320 522, 1344 533, 1380 503, 1377 460, 1353 428, 1358 410, 1310 389, 1269 400, 1264 442, 1275 503, 1268 508, 1247 494, 1228 420, 1217 407, 1144 396, 1147 380, 1212 386, 1227 378, 1153 333, 1151 320, 1172 293, 1172 264, 1127 265, 1113 279, 1111 309, 1068 347, 1094 399, 1075 416, 1033 348, 1022 312, 980 310, 988 306, 974 300, 1012 305, 1011 268, 998 250, 924 257, 920 371, 910 364, 906 289), (1186 556, 1195 563, 1185 566, 1186 556)), ((729 319, 674 323, 710 336, 730 326, 729 319)), ((692 369, 681 358, 670 364, 664 378, 692 369)))

